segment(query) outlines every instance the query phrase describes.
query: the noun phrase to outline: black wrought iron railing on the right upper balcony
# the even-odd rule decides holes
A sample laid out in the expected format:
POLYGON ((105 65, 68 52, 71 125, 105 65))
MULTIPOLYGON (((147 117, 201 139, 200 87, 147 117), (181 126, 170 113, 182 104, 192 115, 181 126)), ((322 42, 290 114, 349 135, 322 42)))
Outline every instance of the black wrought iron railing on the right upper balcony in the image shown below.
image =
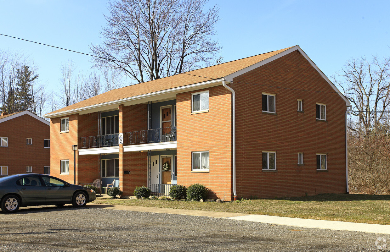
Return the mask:
POLYGON ((176 141, 176 126, 126 132, 126 145, 176 141))

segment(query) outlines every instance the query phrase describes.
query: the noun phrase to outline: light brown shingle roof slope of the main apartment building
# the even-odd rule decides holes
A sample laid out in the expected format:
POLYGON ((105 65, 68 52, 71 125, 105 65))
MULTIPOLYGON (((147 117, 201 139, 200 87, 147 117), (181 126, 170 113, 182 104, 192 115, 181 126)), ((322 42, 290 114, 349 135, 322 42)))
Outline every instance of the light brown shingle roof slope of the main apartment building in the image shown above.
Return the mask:
MULTIPOLYGON (((291 47, 290 47, 291 48, 291 47)), ((211 67, 205 67, 202 69, 192 70, 190 72, 176 74, 165 78, 156 79, 153 81, 147 81, 138 83, 136 85, 125 86, 123 88, 114 89, 100 95, 96 95, 87 100, 72 104, 70 106, 58 109, 51 113, 63 112, 71 109, 78 109, 95 104, 101 104, 104 102, 110 102, 114 100, 120 100, 137 95, 143 95, 147 93, 167 90, 170 88, 176 88, 179 86, 186 86, 195 83, 201 83, 213 79, 220 79, 229 74, 237 72, 241 69, 249 67, 255 63, 261 62, 267 58, 270 58, 278 53, 281 53, 289 48, 281 49, 278 51, 271 51, 269 53, 263 53, 260 55, 243 58, 240 60, 234 60, 219 65, 213 65, 211 67)), ((51 114, 49 113, 49 114, 51 114)))

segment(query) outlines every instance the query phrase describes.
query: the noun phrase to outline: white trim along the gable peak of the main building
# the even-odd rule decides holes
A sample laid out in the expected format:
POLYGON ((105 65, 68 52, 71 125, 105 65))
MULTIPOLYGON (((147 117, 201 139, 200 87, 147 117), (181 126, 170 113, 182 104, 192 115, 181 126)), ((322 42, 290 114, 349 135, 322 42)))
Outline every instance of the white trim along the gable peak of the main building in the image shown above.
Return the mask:
POLYGON ((265 60, 262 60, 261 62, 258 62, 258 63, 255 63, 254 65, 250 65, 249 67, 245 67, 244 69, 241 69, 237 72, 234 72, 232 74, 229 74, 228 76, 225 77, 225 79, 227 81, 230 81, 232 82, 233 81, 233 78, 236 78, 237 76, 240 76, 242 74, 245 74, 246 72, 249 72, 251 70, 254 70, 258 67, 261 67, 262 65, 265 65, 269 62, 272 62, 280 57, 283 57, 289 53, 292 53, 293 51, 296 51, 298 50, 302 55, 303 57, 306 58, 306 60, 314 67, 314 69, 317 70, 317 72, 322 76, 322 78, 325 79, 326 82, 328 82, 328 84, 330 86, 332 86, 332 88, 340 95, 340 97, 345 101, 346 103, 346 106, 351 106, 351 103, 348 101, 348 99, 340 92, 340 90, 335 86, 333 85, 332 81, 330 81, 330 79, 328 79, 328 77, 326 77, 326 75, 317 67, 317 65, 306 55, 306 53, 298 46, 294 46, 290 49, 287 49, 281 53, 278 53, 277 55, 274 55, 268 59, 265 59, 265 60))

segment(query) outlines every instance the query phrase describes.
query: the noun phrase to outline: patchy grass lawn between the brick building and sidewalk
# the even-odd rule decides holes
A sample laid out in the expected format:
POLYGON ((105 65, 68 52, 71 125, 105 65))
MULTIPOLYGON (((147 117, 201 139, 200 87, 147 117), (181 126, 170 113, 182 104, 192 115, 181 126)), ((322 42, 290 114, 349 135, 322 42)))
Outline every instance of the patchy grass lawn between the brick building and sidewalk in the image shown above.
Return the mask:
POLYGON ((223 203, 156 199, 98 199, 93 203, 390 225, 390 195, 320 194, 307 197, 251 199, 223 203))

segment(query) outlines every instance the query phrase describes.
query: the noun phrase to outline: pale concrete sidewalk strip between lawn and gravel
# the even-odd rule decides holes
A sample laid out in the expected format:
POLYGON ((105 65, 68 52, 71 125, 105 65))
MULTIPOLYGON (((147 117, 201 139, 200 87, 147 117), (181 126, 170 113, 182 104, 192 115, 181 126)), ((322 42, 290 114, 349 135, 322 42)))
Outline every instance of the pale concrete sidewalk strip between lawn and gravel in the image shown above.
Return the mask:
POLYGON ((246 221, 262 222, 268 224, 277 224, 277 225, 294 226, 294 227, 390 234, 390 225, 365 224, 365 223, 342 222, 342 221, 332 221, 332 220, 310 220, 310 219, 298 219, 298 218, 278 217, 278 216, 270 216, 270 215, 250 215, 245 213, 225 213, 225 212, 202 211, 202 210, 155 208, 155 207, 145 207, 145 206, 115 206, 115 205, 94 204, 94 203, 88 203, 87 206, 91 208, 205 216, 205 217, 213 217, 213 218, 224 218, 230 220, 246 220, 246 221))

